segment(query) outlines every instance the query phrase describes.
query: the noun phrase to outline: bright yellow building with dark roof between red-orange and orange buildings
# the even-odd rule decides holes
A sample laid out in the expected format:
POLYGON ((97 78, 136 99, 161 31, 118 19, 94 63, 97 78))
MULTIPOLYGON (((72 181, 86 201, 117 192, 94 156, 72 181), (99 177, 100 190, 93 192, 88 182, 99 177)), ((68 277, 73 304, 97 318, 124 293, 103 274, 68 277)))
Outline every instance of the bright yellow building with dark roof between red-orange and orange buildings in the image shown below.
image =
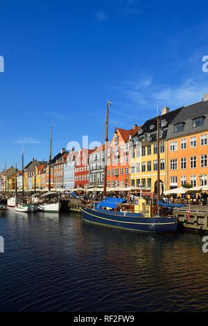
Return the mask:
MULTIPOLYGON (((160 120, 160 148, 159 169, 160 185, 163 190, 168 187, 167 169, 168 147, 166 135, 168 124, 175 118, 181 109, 169 111, 162 109, 160 120)), ((157 117, 144 123, 138 135, 132 138, 130 145, 130 186, 151 189, 156 192, 157 187, 157 117)))

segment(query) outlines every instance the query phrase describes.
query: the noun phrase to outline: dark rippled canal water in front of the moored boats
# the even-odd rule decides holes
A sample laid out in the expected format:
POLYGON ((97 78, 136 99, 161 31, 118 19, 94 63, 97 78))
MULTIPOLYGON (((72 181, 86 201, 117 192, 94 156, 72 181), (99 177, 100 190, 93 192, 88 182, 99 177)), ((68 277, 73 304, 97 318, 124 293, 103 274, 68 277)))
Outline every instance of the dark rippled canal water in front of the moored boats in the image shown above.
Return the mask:
POLYGON ((89 225, 78 214, 0 213, 0 311, 206 311, 199 234, 89 225))

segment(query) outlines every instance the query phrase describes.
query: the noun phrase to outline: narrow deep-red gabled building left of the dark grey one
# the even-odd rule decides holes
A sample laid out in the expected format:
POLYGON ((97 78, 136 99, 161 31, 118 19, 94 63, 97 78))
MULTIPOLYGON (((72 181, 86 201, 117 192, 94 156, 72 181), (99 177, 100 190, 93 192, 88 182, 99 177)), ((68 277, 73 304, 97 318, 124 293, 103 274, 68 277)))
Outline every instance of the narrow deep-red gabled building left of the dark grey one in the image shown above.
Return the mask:
POLYGON ((89 185, 89 154, 94 150, 81 148, 76 157, 75 188, 87 189, 89 185))

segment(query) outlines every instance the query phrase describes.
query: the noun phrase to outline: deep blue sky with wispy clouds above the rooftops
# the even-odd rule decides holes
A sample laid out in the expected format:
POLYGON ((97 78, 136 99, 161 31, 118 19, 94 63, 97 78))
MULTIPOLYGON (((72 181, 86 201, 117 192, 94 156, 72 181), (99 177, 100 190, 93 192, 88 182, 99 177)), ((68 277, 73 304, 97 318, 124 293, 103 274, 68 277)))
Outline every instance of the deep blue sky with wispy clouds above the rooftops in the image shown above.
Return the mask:
POLYGON ((205 1, 2 0, 0 169, 49 157, 208 93, 205 1))

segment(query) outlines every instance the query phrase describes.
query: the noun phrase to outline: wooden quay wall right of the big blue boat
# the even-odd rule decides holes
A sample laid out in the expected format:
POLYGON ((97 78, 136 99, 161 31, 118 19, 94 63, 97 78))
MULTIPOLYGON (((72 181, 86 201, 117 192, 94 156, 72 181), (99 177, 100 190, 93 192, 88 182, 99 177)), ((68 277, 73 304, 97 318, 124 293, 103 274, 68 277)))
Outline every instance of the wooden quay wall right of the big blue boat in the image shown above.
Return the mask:
POLYGON ((190 207, 189 218, 187 218, 188 210, 189 207, 174 209, 174 215, 179 225, 187 230, 208 232, 208 206, 192 205, 190 207))

